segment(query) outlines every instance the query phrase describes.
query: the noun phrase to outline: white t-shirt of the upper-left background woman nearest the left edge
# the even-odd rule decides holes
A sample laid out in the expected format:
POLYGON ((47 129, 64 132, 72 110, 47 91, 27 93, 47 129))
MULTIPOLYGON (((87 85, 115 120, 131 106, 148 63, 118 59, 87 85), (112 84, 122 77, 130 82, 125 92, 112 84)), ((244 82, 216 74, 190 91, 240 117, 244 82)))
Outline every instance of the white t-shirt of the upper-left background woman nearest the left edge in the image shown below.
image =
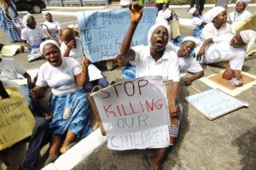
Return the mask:
POLYGON ((28 26, 26 26, 21 31, 21 39, 26 40, 26 43, 29 45, 40 45, 42 42, 42 39, 47 38, 44 34, 44 31, 42 28, 36 26, 35 29, 30 29, 28 26))

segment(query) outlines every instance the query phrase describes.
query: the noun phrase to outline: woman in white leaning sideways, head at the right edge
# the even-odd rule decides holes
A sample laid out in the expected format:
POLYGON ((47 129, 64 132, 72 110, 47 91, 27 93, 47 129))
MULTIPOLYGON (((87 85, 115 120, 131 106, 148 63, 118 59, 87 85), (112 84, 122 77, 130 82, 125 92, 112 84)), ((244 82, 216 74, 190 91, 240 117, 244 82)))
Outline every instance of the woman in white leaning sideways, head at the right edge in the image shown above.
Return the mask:
POLYGON ((247 50, 253 47, 256 39, 256 32, 252 30, 240 31, 236 35, 225 34, 220 37, 207 39, 201 44, 201 48, 196 55, 196 59, 202 64, 218 63, 228 60, 230 69, 242 84, 241 69, 247 50), (245 48, 247 44, 247 50, 245 48), (203 56, 203 58, 202 58, 203 56))

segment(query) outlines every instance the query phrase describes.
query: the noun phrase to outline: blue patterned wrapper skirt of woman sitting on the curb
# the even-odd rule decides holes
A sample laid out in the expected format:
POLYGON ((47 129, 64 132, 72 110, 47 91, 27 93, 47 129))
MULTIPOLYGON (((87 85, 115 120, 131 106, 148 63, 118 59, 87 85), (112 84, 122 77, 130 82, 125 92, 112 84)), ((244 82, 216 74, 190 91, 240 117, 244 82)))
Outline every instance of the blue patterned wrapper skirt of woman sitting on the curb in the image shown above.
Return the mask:
POLYGON ((65 134, 71 130, 78 139, 83 139, 92 132, 89 101, 82 90, 58 96, 52 94, 49 105, 53 115, 49 128, 53 134, 65 134))

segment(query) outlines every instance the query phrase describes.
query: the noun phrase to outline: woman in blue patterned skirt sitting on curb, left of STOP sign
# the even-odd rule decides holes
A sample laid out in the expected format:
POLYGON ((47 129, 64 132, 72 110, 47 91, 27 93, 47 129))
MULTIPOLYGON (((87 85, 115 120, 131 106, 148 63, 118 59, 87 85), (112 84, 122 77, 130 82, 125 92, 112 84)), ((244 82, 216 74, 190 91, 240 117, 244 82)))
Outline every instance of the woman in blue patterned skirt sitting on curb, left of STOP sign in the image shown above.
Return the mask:
POLYGON ((33 98, 42 96, 51 88, 49 100, 53 115, 49 128, 53 135, 49 144, 49 158, 53 162, 78 141, 91 133, 89 103, 82 86, 89 80, 89 60, 83 57, 82 65, 71 57, 61 57, 61 49, 54 40, 40 45, 40 52, 47 61, 38 71, 36 87, 30 91, 33 98))

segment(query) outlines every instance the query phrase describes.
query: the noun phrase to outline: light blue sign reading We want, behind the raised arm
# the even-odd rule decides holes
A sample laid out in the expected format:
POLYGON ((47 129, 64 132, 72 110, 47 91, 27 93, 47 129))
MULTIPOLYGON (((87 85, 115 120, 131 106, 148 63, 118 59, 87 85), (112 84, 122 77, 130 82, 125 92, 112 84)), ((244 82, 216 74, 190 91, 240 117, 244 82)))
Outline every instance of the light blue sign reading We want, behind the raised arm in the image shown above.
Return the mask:
MULTIPOLYGON (((154 25, 156 15, 156 8, 144 8, 131 46, 148 43, 148 30, 154 25)), ((78 20, 84 54, 91 62, 113 59, 119 54, 130 24, 129 8, 79 12, 78 20)))

